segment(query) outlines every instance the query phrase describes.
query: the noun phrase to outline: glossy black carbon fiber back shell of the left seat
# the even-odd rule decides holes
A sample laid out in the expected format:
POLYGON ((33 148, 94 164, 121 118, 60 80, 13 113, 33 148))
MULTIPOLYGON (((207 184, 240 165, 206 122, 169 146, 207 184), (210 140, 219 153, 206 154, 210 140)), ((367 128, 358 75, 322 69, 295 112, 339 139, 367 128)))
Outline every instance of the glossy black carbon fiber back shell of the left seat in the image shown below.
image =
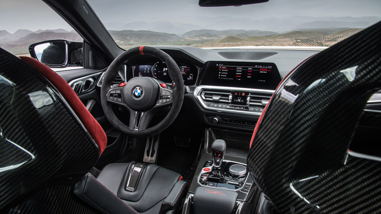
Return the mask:
POLYGON ((95 165, 106 135, 99 142, 50 81, 0 48, 0 213, 77 182, 95 165))

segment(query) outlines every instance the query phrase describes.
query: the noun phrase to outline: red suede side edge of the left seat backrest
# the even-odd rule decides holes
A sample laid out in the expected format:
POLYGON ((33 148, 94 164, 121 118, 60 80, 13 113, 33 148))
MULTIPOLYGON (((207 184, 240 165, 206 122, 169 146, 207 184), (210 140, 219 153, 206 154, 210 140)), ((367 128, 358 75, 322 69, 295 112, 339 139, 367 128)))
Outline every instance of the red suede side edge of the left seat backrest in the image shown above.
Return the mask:
POLYGON ((69 106, 76 113, 78 118, 84 124, 86 130, 94 139, 95 143, 99 147, 100 154, 102 154, 103 150, 105 150, 107 145, 107 137, 106 133, 99 125, 99 123, 94 119, 91 113, 86 109, 84 104, 78 98, 77 94, 73 91, 73 89, 67 84, 63 78, 50 69, 45 64, 40 63, 36 59, 31 57, 20 57, 25 63, 32 66, 34 69, 39 71, 42 76, 44 76, 53 86, 57 88, 57 90, 62 94, 63 98, 69 104, 69 106))

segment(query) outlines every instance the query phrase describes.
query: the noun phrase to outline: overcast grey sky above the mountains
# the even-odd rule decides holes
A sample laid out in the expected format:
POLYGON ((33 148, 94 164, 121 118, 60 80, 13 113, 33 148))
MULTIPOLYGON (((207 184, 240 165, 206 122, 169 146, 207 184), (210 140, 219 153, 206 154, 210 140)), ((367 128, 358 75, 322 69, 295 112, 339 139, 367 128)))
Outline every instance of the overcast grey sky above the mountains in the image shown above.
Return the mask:
MULTIPOLYGON (((106 25, 132 21, 187 20, 194 16, 250 18, 381 16, 381 0, 269 0, 239 7, 199 7, 198 0, 88 0, 106 25), (176 7, 174 6, 176 5, 176 7)), ((41 0, 1 0, 0 30, 70 29, 41 0)))

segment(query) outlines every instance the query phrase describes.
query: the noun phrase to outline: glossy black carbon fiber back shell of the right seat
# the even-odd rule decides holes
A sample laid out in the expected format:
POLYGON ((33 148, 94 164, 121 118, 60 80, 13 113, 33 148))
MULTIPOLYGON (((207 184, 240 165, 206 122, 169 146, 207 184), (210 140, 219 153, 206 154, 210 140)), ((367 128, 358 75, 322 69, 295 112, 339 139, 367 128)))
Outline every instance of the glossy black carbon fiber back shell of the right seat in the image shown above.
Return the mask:
POLYGON ((381 213, 381 162, 348 156, 381 87, 381 22, 300 65, 276 90, 248 156, 281 213, 381 213))

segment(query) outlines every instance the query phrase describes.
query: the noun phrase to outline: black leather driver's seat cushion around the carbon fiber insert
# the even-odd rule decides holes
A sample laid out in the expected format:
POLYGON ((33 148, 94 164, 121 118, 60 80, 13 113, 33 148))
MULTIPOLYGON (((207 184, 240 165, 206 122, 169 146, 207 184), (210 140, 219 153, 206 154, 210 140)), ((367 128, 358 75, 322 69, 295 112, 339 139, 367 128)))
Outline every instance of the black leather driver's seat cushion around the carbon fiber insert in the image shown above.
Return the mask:
POLYGON ((134 192, 126 191, 131 163, 107 165, 95 178, 85 175, 74 187, 74 193, 107 214, 171 213, 181 205, 187 183, 180 174, 148 164, 134 192))

